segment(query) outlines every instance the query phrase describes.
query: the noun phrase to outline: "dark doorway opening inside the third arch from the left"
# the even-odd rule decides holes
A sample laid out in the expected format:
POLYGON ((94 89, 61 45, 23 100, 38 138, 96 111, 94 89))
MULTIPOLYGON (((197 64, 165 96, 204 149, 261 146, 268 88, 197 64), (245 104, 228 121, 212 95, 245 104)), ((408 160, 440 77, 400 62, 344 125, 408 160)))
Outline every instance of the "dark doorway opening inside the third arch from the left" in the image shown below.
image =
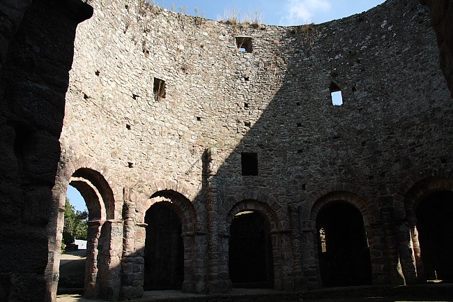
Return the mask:
POLYGON ((233 287, 273 287, 270 226, 259 212, 238 213, 231 222, 229 276, 233 287))

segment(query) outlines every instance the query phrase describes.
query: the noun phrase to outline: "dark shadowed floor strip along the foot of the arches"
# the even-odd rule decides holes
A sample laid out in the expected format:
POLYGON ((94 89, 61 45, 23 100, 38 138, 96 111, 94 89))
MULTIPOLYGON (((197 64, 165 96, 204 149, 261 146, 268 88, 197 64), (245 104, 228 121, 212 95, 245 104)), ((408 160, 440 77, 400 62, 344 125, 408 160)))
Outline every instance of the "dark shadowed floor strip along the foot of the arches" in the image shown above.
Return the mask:
MULTIPOLYGON (((84 299, 79 294, 62 294, 57 302, 100 302, 84 299)), ((453 302, 453 284, 417 285, 410 287, 336 287, 310 292, 284 293, 272 289, 233 289, 229 294, 184 294, 179 291, 145 292, 134 302, 453 302)))

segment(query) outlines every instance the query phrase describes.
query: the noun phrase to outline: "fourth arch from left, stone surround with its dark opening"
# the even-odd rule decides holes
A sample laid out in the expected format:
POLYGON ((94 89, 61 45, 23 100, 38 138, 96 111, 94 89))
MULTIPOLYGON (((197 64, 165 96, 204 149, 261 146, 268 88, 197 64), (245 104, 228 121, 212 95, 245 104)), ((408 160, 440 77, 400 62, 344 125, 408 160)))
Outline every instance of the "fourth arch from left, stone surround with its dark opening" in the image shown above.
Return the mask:
POLYGON ((374 240, 363 199, 351 192, 330 192, 314 203, 302 225, 302 249, 315 256, 305 259, 305 274, 314 273, 313 264, 318 268, 311 282, 327 287, 371 284, 374 240))

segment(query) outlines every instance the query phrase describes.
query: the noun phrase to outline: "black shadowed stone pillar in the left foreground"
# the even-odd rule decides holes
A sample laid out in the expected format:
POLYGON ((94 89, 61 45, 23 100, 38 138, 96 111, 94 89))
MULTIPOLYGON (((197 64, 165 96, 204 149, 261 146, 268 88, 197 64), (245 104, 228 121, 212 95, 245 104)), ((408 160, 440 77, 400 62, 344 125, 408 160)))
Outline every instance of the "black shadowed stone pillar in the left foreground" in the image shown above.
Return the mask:
POLYGON ((82 1, 1 6, 0 300, 49 301, 55 230, 47 227, 68 70, 77 24, 93 10, 82 1))

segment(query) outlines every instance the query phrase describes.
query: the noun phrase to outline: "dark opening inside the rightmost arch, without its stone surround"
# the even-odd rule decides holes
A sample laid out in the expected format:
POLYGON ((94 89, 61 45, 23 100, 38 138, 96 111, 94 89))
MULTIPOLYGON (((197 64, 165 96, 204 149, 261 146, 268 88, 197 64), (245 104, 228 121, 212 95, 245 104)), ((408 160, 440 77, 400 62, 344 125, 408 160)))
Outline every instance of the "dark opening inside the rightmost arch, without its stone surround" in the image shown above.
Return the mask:
POLYGON ((453 282, 453 192, 428 195, 415 213, 427 280, 453 282))

